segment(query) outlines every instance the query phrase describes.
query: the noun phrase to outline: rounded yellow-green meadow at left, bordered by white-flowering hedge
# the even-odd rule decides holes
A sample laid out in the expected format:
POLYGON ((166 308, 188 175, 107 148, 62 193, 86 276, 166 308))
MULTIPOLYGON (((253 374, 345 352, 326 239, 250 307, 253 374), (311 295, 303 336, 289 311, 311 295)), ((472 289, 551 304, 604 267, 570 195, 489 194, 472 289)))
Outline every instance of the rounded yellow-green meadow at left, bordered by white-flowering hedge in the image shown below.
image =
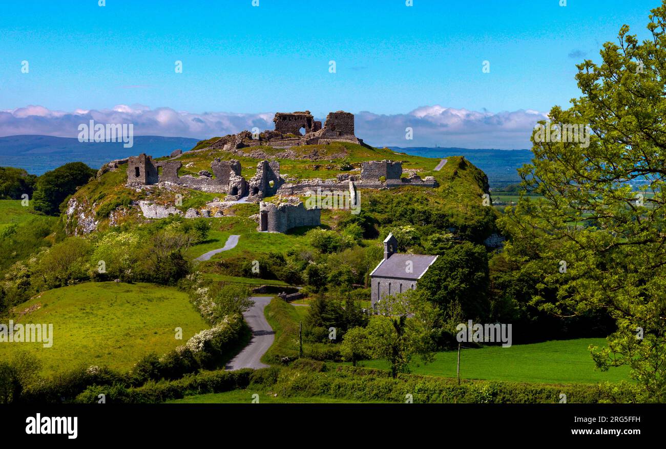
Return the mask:
POLYGON ((5 342, 0 344, 0 360, 18 350, 33 352, 43 364, 43 375, 91 365, 129 370, 149 352, 161 356, 210 327, 184 292, 143 283, 89 282, 57 288, 14 311, 15 322, 52 323, 53 346, 5 342), (18 316, 35 304, 40 308, 18 316), (182 340, 175 339, 176 327, 182 328, 182 340))

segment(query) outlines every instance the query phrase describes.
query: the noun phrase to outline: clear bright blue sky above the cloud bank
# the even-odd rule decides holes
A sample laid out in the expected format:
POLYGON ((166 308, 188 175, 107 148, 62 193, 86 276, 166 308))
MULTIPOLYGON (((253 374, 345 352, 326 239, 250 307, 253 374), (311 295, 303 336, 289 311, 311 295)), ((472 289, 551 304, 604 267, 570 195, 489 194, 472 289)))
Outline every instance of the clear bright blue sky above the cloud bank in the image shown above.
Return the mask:
POLYGON ((547 112, 621 25, 645 37, 659 0, 106 3, 3 1, 0 110, 547 112))

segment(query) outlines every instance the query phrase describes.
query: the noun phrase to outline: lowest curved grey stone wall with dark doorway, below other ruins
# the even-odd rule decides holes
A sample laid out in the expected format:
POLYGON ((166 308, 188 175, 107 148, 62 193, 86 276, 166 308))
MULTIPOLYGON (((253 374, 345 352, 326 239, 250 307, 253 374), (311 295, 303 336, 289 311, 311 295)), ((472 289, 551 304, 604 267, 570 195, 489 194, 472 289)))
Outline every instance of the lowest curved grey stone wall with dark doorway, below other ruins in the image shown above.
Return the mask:
MULTIPOLYGON (((297 201, 297 202, 296 202, 297 201)), ((286 232, 297 226, 320 226, 321 209, 305 209, 302 201, 292 203, 259 203, 259 230, 286 232)))

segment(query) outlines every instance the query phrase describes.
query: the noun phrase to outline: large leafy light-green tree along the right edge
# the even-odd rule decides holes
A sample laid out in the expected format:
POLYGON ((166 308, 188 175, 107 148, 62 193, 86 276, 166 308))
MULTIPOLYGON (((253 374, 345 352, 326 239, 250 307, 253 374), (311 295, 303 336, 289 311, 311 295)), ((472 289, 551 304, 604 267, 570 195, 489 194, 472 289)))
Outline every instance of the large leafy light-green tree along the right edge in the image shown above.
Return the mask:
MULTIPOLYGON (((589 125, 589 146, 532 136, 521 195, 501 220, 507 254, 538 274, 533 304, 559 316, 605 310, 617 324, 597 365, 627 364, 643 400, 666 401, 666 1, 650 37, 624 25, 599 65, 579 64, 582 95, 551 123, 589 125), (635 187, 639 186, 639 191, 635 187)), ((557 140, 557 139, 555 139, 557 140)))

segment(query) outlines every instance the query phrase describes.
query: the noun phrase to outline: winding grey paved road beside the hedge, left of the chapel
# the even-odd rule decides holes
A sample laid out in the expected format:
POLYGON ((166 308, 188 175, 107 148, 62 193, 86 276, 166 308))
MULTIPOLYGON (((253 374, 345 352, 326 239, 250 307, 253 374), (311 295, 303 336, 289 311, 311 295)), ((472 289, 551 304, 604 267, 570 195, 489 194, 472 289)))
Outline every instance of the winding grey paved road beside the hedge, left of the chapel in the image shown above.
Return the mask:
POLYGON ((266 321, 264 307, 272 299, 270 296, 252 296, 254 306, 243 314, 245 321, 252 329, 252 340, 240 353, 232 358, 225 368, 227 370, 240 370, 241 368, 267 368, 268 365, 261 362, 261 356, 266 354, 275 339, 275 332, 266 321))

